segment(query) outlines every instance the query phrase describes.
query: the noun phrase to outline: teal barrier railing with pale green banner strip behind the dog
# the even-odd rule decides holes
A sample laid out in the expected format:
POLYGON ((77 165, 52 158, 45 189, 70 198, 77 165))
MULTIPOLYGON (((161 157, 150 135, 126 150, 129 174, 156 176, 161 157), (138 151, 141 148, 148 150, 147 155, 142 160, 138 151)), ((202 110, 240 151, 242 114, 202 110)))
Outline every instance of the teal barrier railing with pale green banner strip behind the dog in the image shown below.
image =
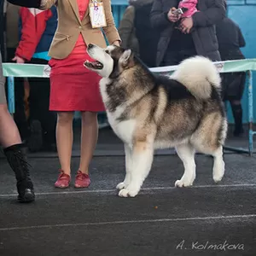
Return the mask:
MULTIPOLYGON (((246 72, 247 73, 247 102, 248 102, 248 150, 243 148, 230 148, 232 151, 248 153, 253 155, 253 76, 256 71, 256 59, 239 61, 218 61, 214 62, 219 73, 246 72)), ((153 73, 170 74, 177 69, 177 66, 150 68, 153 73)), ((49 78, 50 67, 48 65, 15 64, 3 63, 3 76, 8 77, 8 104, 9 112, 15 113, 15 77, 21 78, 49 78)))

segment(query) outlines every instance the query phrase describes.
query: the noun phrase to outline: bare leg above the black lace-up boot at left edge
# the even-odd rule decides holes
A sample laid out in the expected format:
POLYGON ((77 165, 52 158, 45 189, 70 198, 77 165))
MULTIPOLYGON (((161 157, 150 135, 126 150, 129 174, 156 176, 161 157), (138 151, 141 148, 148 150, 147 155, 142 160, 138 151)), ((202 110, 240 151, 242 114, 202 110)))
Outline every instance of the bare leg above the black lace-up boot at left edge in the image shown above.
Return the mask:
POLYGON ((0 104, 0 143, 3 148, 21 143, 19 130, 6 104, 0 104))

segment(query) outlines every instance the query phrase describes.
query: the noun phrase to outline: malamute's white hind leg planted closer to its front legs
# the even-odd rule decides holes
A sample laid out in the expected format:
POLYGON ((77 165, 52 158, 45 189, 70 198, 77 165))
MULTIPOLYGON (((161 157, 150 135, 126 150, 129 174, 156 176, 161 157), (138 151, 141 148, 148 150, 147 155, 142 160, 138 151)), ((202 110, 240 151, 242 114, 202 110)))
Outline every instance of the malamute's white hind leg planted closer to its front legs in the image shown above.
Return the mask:
POLYGON ((191 144, 181 144, 176 147, 177 155, 183 161, 184 173, 175 183, 175 187, 189 187, 195 180, 195 148, 191 144))

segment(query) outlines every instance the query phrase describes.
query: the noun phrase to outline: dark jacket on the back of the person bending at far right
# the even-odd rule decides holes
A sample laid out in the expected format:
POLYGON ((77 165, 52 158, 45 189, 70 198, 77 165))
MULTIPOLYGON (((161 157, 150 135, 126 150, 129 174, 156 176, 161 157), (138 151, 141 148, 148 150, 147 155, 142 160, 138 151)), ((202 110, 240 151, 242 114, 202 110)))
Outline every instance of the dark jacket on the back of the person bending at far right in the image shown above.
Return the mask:
POLYGON ((230 18, 224 18, 216 26, 218 38, 218 50, 223 61, 244 59, 240 48, 245 47, 246 42, 240 27, 230 18))

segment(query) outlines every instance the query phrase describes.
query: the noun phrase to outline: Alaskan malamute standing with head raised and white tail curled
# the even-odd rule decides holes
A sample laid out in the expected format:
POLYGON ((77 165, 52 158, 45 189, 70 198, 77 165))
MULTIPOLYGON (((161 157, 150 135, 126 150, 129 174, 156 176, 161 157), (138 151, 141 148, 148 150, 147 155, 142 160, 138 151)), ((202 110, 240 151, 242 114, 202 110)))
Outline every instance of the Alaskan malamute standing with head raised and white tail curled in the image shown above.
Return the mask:
POLYGON ((84 66, 102 76, 109 124, 125 143, 126 175, 117 185, 119 196, 138 194, 156 148, 176 148, 184 166, 177 187, 193 184, 195 151, 213 156, 213 180, 222 179, 227 119, 212 61, 189 58, 167 77, 151 73, 131 49, 89 44, 87 51, 96 61, 85 61, 84 66))

